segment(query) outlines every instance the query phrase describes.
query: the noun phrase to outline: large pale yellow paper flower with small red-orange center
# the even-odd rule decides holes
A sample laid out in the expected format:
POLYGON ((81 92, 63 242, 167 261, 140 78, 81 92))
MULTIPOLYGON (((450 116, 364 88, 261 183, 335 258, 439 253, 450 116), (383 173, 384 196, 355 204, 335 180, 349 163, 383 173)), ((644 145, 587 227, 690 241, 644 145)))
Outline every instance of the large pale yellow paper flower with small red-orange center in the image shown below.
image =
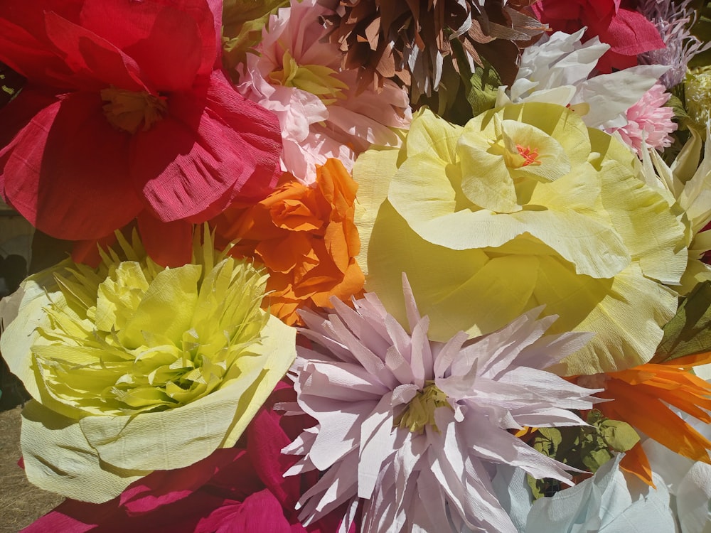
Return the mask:
POLYGON ((509 105, 454 126, 431 112, 402 149, 353 170, 365 289, 405 320, 402 271, 446 340, 481 335, 545 305, 552 333, 592 331, 555 371, 642 364, 674 314, 684 226, 636 158, 554 104, 509 105))

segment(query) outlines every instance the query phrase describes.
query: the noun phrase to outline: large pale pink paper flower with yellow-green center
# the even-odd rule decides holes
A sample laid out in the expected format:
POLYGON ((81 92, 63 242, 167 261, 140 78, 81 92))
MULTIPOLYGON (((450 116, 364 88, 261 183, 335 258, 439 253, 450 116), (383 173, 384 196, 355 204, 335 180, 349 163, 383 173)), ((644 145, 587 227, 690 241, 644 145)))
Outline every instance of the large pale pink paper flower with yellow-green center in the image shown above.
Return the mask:
MULTIPOLYGON (((279 117, 282 169, 304 183, 316 178, 316 165, 338 158, 351 170, 355 157, 371 144, 399 146, 391 128, 412 119, 407 92, 385 82, 380 92, 356 94, 357 72, 339 72, 338 45, 324 41, 319 22, 331 9, 324 1, 292 0, 269 18, 257 54, 240 65, 237 90, 279 117)), ((337 4, 333 2, 333 4, 337 4)))

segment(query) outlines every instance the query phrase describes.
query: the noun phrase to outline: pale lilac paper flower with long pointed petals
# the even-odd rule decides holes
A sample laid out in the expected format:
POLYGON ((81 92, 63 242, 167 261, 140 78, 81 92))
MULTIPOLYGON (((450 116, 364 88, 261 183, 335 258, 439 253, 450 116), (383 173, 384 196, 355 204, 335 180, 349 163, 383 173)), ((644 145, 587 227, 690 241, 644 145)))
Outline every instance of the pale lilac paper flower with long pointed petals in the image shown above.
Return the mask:
POLYGON ((299 500, 301 517, 308 523, 345 502, 353 516, 360 501, 363 532, 515 533, 491 468, 570 481, 565 465, 507 430, 584 424, 568 409, 589 409, 595 391, 542 369, 590 335, 542 336, 555 317, 537 320, 539 308, 481 338, 459 332, 434 342, 405 276, 403 286, 410 333, 372 293, 355 311, 334 298, 326 317, 303 313, 312 345, 297 349, 294 389, 318 424, 284 449, 304 456, 285 475, 323 474, 299 500))

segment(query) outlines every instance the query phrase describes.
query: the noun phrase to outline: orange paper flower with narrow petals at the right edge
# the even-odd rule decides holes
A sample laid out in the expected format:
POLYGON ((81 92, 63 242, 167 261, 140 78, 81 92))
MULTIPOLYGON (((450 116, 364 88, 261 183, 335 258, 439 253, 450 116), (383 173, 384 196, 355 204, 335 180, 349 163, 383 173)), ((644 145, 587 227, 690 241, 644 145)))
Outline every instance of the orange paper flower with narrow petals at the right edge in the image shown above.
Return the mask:
MULTIPOLYGON (((711 352, 678 357, 662 363, 646 363, 604 375, 580 376, 577 383, 589 387, 592 381, 604 387, 597 394, 611 402, 595 407, 610 419, 622 420, 682 456, 711 463, 711 441, 693 429, 672 405, 695 418, 711 423, 711 384, 689 370, 711 362, 711 352)), ((627 452, 620 464, 648 485, 653 485, 651 468, 640 443, 627 452)))

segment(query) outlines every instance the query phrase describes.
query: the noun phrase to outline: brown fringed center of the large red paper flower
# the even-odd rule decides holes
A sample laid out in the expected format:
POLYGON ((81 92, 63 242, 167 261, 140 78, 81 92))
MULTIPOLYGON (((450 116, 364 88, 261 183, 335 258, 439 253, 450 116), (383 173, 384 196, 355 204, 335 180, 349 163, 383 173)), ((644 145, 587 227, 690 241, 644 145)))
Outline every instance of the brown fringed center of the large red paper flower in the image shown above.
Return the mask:
POLYGON ((154 96, 146 91, 109 87, 101 91, 101 99, 108 102, 103 109, 109 123, 129 134, 136 133, 141 126, 143 131, 148 131, 168 113, 166 97, 154 96))

